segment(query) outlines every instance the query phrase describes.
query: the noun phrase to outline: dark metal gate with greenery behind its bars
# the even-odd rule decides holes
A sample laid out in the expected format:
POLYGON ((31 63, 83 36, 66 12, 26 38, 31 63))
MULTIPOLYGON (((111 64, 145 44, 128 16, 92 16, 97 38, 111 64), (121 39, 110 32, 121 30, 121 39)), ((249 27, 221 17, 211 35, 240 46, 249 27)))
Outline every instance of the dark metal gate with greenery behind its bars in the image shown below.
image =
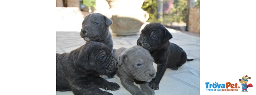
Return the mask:
POLYGON ((187 0, 163 0, 163 25, 169 28, 186 30, 187 0))

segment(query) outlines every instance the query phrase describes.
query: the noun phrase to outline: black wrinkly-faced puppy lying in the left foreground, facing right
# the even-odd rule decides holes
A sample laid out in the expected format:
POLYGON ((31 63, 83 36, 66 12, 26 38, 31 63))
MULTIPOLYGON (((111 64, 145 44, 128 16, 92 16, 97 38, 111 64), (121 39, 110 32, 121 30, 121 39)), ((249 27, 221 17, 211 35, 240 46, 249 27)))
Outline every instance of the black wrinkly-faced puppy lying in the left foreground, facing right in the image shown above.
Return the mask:
POLYGON ((112 95, 105 90, 120 88, 99 75, 115 71, 117 60, 103 43, 90 41, 70 53, 57 54, 57 91, 73 91, 75 95, 112 95))

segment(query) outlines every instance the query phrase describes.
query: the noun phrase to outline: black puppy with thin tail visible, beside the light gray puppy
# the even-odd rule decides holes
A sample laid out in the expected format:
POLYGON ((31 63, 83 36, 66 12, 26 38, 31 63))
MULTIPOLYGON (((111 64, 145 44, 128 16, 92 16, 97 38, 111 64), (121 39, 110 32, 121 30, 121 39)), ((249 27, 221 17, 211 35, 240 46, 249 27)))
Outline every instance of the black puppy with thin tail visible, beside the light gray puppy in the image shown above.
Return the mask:
POLYGON ((160 80, 167 68, 178 70, 187 59, 186 52, 174 43, 170 43, 171 33, 160 23, 150 23, 142 29, 137 45, 147 49, 157 64, 156 77, 149 82, 149 86, 158 90, 160 80))

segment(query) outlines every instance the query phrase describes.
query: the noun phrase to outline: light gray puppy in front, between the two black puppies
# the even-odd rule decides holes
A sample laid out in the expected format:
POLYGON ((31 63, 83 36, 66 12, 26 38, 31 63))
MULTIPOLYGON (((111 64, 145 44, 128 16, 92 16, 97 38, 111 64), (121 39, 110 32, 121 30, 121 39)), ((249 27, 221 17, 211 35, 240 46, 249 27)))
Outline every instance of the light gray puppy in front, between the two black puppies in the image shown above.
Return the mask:
POLYGON ((133 95, 154 95, 154 90, 148 86, 148 80, 156 76, 156 71, 148 50, 133 46, 129 49, 119 48, 114 53, 119 63, 116 74, 124 88, 133 95), (140 84, 140 88, 133 82, 140 84))

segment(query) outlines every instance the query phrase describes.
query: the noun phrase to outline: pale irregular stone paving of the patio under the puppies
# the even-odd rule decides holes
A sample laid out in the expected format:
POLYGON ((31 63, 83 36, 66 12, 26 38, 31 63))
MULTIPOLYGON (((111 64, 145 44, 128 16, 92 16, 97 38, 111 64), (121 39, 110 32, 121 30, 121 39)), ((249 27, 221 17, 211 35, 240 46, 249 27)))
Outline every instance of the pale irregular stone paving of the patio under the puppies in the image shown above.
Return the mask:
MULTIPOLYGON (((141 29, 144 28, 146 24, 141 26, 141 29)), ((140 30, 141 30, 140 29, 140 30)), ((110 30, 111 31, 111 30, 110 30)), ((176 43, 181 48, 183 48, 188 58, 194 58, 193 61, 186 62, 178 70, 167 69, 164 73, 164 76, 159 84, 159 90, 155 90, 156 95, 199 95, 199 46, 200 40, 199 37, 181 33, 173 29, 168 29, 172 34, 173 38, 170 42, 176 43)), ((132 36, 116 36, 112 34, 112 39, 114 43, 113 48, 130 48, 136 45, 136 41, 140 36, 140 33, 132 36)), ((85 41, 80 37, 79 32, 56 32, 56 53, 65 53, 70 52, 82 45, 85 44, 85 41)), ((156 69, 156 64, 154 67, 156 69)), ((107 76, 101 76, 108 80, 109 82, 116 82, 121 86, 117 91, 108 92, 114 95, 131 95, 121 84, 119 77, 116 75, 114 78, 109 79, 107 76)), ((137 85, 137 84, 135 84, 137 85)), ((101 89, 101 88, 100 88, 101 89)), ((106 91, 104 89, 101 89, 106 91)), ((57 95, 74 95, 72 91, 56 91, 57 95)))

